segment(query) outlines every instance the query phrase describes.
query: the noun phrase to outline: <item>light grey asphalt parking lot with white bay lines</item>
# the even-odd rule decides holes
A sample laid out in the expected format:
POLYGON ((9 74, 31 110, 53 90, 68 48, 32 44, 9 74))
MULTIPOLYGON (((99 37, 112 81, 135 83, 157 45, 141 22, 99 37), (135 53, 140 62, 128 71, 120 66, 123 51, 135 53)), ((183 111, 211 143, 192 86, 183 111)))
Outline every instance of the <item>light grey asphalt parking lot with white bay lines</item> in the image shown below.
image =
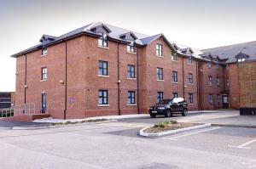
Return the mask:
POLYGON ((256 129, 207 127, 161 138, 143 118, 39 130, 0 129, 0 168, 256 168, 256 129))

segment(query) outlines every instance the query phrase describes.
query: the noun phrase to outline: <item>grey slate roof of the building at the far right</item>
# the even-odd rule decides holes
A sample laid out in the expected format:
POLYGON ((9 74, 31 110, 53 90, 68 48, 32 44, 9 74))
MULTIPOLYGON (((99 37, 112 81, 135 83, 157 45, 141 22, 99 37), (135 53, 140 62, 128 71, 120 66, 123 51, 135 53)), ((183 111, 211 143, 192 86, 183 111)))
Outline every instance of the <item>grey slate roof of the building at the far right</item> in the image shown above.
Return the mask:
POLYGON ((209 48, 202 50, 203 53, 212 54, 212 56, 218 56, 219 59, 226 59, 225 63, 236 63, 237 54, 246 54, 246 61, 256 60, 256 41, 244 42, 230 46, 209 48))

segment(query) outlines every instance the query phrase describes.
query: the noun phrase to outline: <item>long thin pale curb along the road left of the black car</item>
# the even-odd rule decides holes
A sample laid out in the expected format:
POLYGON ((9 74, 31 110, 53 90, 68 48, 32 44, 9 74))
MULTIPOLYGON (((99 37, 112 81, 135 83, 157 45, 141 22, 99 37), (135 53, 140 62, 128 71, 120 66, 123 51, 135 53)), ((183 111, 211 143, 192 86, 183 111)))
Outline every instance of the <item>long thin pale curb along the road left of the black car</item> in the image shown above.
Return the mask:
POLYGON ((101 124, 101 123, 109 123, 116 122, 117 120, 110 121, 98 121, 98 122, 84 122, 84 123, 76 123, 76 124, 63 124, 63 125, 54 125, 50 124, 48 126, 24 126, 24 127, 12 127, 13 130, 38 130, 38 129, 49 129, 49 128, 59 128, 59 127, 74 127, 74 126, 83 126, 89 124, 101 124))

